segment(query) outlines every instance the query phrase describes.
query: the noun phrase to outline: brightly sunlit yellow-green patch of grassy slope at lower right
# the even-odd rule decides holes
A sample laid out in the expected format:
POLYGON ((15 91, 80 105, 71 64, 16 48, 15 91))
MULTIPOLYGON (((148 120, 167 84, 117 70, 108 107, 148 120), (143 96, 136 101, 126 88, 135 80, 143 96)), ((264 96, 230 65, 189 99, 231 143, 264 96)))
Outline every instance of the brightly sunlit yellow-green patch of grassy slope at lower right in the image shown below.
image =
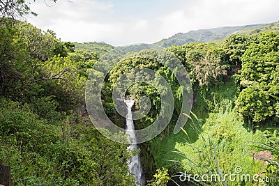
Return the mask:
POLYGON ((176 150, 173 154, 176 154, 176 158, 171 159, 171 162, 181 164, 182 168, 172 178, 179 180, 179 176, 184 175, 183 171, 186 171, 188 175, 206 175, 209 180, 197 182, 193 176, 190 176, 190 178, 184 179, 185 181, 180 183, 181 185, 189 183, 229 186, 257 185, 252 179, 230 180, 227 175, 237 174, 236 168, 241 167, 239 175, 247 174, 252 178, 253 175, 264 169, 263 162, 253 160, 251 154, 255 151, 255 147, 248 146, 248 141, 263 142, 262 132, 258 130, 255 133, 248 132, 243 127, 243 122, 235 118, 232 112, 211 113, 203 125, 203 121, 192 115, 188 126, 183 130, 184 142, 177 142, 175 145, 176 150), (188 133, 189 128, 195 129, 199 136, 197 140, 193 141, 189 137, 193 136, 188 133), (211 176, 213 176, 212 180, 211 176))

